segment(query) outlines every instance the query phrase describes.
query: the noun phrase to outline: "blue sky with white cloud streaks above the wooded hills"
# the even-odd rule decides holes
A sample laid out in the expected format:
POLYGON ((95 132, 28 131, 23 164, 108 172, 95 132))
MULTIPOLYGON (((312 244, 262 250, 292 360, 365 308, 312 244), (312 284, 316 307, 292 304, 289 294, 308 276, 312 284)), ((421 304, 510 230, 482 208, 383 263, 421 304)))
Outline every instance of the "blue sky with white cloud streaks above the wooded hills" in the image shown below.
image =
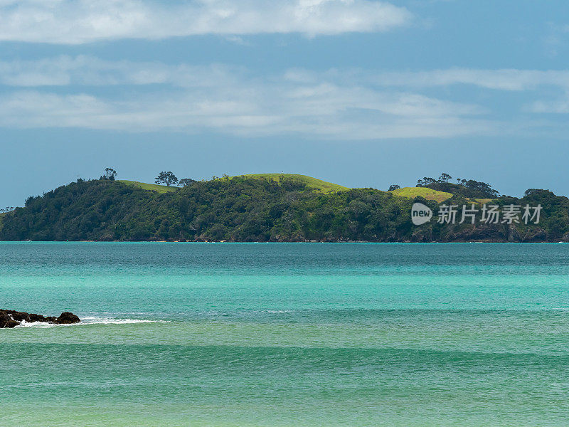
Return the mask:
POLYGON ((0 206, 97 178, 569 195, 566 0, 0 0, 0 206))

